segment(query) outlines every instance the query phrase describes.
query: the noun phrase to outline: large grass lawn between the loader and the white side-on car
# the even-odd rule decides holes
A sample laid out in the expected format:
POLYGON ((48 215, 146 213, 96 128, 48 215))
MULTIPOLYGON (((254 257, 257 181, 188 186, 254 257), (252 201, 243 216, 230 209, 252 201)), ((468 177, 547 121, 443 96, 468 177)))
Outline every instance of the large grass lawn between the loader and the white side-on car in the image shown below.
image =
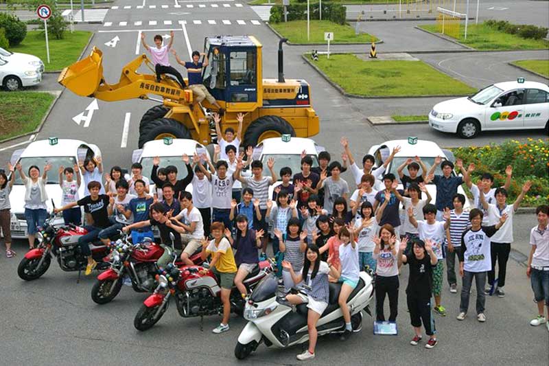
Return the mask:
POLYGON ((474 93, 459 80, 422 61, 369 60, 353 54, 325 55, 315 62, 347 93, 364 96, 467 95, 474 93))

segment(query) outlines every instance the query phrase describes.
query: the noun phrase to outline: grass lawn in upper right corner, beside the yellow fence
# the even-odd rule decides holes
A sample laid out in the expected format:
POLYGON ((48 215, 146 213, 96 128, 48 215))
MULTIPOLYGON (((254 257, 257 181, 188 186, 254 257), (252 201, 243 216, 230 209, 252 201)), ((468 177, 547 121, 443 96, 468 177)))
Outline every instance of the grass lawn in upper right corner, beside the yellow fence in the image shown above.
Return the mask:
MULTIPOLYGON (((419 27, 437 33, 436 24, 420 25, 419 27)), ((462 25, 460 27, 460 38, 456 41, 480 50, 547 49, 549 47, 548 41, 521 38, 515 34, 495 30, 484 23, 469 24, 467 27, 467 40, 463 38, 464 33, 465 25, 462 25)))

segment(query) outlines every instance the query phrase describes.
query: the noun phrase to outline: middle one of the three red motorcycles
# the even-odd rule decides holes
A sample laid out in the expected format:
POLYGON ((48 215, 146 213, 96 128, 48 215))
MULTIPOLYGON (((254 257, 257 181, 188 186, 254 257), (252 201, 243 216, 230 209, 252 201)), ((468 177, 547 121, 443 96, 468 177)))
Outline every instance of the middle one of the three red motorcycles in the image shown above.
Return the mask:
MULTIPOLYGON (((145 238, 141 243, 132 245, 128 243, 128 235, 113 243, 110 252, 110 268, 97 276, 97 282, 91 288, 91 299, 96 304, 107 304, 120 292, 123 279, 128 275, 132 281, 132 288, 138 293, 152 293, 157 286, 155 275, 158 273, 161 258, 174 258, 174 234, 170 233, 172 247, 152 242, 145 238)), ((201 250, 201 249, 200 249, 201 250)), ((178 260, 178 256, 177 256, 178 260)), ((175 262, 176 266, 184 266, 183 262, 175 262)), ((202 264, 200 251, 191 255, 190 260, 194 264, 202 264)))

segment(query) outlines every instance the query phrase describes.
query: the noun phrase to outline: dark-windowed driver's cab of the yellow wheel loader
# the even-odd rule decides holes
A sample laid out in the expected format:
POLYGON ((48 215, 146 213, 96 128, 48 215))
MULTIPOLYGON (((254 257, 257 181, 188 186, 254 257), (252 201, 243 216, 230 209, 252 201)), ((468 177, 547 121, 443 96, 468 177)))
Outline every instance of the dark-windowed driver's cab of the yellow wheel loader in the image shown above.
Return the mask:
POLYGON ((261 44, 253 36, 208 37, 205 54, 202 80, 216 100, 243 111, 261 106, 261 44))

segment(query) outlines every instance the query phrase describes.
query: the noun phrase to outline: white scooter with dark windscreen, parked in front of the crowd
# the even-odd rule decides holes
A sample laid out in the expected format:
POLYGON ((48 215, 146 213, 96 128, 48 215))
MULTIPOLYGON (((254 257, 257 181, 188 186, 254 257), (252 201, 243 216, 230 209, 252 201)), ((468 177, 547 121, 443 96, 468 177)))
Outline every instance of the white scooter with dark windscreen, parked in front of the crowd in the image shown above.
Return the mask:
MULTIPOLYGON (((338 305, 340 290, 341 284, 329 284, 329 304, 316 324, 318 336, 344 331, 343 314, 338 305)), ((278 293, 277 296, 277 291, 278 279, 274 273, 262 279, 253 291, 244 308, 244 319, 248 323, 238 336, 236 358, 246 358, 261 342, 267 347, 274 345, 285 348, 309 340, 307 304, 300 304, 293 311, 292 305, 285 300, 285 294, 278 293)), ((372 277, 366 272, 360 272, 358 285, 347 300, 353 332, 362 329, 362 310, 371 315, 369 303, 372 295, 372 277)))

